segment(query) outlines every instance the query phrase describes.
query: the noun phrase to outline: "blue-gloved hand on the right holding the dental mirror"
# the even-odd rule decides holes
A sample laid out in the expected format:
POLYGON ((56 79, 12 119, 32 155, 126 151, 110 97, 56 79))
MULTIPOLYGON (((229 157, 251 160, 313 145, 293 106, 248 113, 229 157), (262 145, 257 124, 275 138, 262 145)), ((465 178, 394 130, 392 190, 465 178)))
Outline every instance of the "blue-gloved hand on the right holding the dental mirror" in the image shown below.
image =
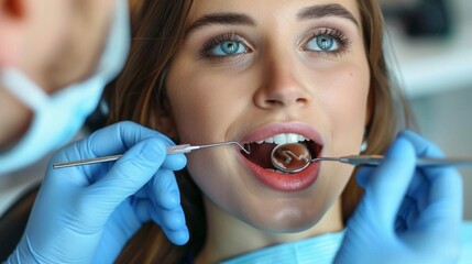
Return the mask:
POLYGON ((361 168, 365 189, 348 222, 336 263, 455 263, 460 254, 462 182, 452 167, 415 167, 441 157, 430 142, 402 132, 378 167, 361 168))

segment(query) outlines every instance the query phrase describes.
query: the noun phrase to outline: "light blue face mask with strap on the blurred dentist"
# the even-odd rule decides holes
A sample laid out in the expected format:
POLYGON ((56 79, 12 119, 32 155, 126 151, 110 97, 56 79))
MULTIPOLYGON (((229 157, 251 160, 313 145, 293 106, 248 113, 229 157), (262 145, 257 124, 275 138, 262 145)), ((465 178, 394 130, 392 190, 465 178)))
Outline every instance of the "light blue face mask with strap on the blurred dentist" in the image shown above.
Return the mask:
POLYGON ((99 65, 87 80, 48 96, 21 72, 14 68, 1 70, 2 86, 29 106, 34 117, 20 142, 0 153, 0 175, 36 162, 73 139, 97 107, 105 86, 122 69, 130 41, 128 1, 118 0, 99 65))

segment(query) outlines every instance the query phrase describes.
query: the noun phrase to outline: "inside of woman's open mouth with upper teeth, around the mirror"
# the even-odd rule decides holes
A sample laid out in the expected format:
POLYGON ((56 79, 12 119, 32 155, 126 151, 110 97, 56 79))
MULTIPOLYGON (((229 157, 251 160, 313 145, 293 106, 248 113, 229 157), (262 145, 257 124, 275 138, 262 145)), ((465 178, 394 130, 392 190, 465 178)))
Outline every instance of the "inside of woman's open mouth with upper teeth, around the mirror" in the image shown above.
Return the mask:
POLYGON ((285 174, 274 167, 271 156, 273 150, 283 144, 299 143, 303 144, 309 151, 312 158, 317 157, 321 152, 322 146, 312 140, 309 140, 300 134, 294 133, 282 133, 274 136, 267 138, 262 141, 245 143, 251 150, 251 154, 241 152, 245 158, 252 163, 259 165, 262 168, 285 174))

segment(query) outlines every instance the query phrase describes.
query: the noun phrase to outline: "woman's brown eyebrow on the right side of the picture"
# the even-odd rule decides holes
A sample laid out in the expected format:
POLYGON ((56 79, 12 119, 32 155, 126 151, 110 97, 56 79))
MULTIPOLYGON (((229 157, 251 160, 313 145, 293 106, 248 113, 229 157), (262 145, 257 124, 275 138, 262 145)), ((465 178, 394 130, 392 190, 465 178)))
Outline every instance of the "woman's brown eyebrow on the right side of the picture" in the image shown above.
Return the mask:
POLYGON ((340 16, 350 20, 358 28, 359 21, 344 7, 339 3, 319 4, 303 9, 298 12, 298 20, 319 19, 326 16, 340 16))

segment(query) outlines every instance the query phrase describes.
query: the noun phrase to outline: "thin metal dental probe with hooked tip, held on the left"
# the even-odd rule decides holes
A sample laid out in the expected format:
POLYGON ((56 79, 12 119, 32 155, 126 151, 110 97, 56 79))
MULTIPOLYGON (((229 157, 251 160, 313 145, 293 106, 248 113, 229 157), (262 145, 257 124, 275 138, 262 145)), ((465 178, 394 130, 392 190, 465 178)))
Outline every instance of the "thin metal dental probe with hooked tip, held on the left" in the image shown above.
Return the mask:
MULTIPOLYGON (((189 153, 201 148, 231 145, 231 144, 238 145, 241 148, 241 151, 245 152, 246 154, 251 153, 250 150, 244 148, 244 146, 241 145, 239 142, 228 141, 228 142, 212 143, 212 144, 206 144, 206 145, 190 145, 190 144, 171 145, 171 146, 167 146, 167 154, 180 154, 180 153, 185 154, 185 153, 189 153)), ((74 162, 67 162, 67 163, 56 163, 56 164, 53 164, 53 168, 64 168, 64 167, 81 166, 81 165, 89 165, 89 164, 103 163, 103 162, 113 162, 120 158, 121 156, 123 156, 123 154, 74 161, 74 162)))

